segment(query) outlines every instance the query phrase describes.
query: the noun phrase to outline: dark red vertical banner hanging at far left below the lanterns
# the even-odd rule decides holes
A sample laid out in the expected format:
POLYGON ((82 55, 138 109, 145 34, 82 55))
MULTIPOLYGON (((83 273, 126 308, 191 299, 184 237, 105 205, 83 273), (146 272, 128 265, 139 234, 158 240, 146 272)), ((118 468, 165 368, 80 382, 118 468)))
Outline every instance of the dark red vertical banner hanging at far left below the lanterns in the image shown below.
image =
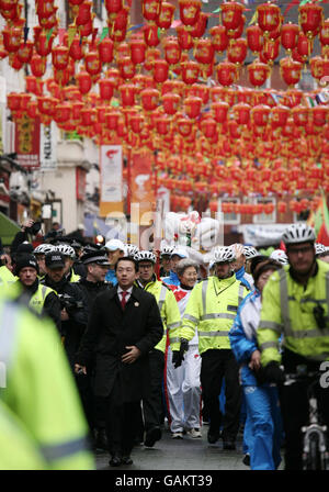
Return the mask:
POLYGON ((25 169, 39 169, 39 119, 26 114, 15 122, 16 161, 25 169))

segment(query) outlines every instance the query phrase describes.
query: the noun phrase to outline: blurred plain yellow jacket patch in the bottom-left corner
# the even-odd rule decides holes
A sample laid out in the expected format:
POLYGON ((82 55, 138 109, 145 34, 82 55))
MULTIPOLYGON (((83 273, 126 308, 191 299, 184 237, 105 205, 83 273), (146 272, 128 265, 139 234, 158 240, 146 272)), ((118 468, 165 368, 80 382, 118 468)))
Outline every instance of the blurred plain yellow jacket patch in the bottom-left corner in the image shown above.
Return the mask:
POLYGON ((29 432, 0 400, 0 470, 48 470, 29 432))

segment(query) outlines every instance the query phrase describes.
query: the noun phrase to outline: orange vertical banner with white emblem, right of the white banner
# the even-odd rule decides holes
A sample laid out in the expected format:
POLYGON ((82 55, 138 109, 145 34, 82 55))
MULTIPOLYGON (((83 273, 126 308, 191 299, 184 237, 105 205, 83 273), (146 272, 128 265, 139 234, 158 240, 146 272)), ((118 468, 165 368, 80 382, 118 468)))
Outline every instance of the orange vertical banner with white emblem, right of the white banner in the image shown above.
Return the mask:
POLYGON ((131 203, 139 205, 139 225, 149 225, 156 212, 156 194, 152 180, 152 156, 133 154, 131 161, 131 203))

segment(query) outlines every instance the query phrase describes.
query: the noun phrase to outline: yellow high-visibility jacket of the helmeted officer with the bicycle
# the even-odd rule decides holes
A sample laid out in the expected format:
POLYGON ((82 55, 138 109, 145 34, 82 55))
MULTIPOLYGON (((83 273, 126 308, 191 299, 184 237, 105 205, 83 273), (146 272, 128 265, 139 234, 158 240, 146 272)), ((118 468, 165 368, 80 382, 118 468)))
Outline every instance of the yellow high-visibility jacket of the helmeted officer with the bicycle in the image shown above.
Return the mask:
POLYGON ((283 347, 313 360, 329 360, 329 265, 317 260, 318 271, 306 289, 290 275, 290 267, 275 271, 262 292, 262 310, 257 332, 261 364, 281 362, 279 338, 283 347), (321 305, 326 328, 319 329, 314 308, 321 305))

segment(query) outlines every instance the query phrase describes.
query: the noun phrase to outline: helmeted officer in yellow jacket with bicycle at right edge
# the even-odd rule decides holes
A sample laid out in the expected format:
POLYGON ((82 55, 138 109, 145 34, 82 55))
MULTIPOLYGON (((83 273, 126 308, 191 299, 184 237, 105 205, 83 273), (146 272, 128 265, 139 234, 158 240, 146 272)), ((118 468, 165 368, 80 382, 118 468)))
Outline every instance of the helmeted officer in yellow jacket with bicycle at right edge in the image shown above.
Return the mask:
MULTIPOLYGON (((265 377, 277 383, 284 382, 284 372, 318 371, 320 364, 329 360, 329 266, 316 259, 315 233, 307 224, 292 224, 282 241, 288 265, 273 273, 264 287, 258 329, 265 377), (282 334, 281 353, 279 338, 282 334)), ((316 393, 319 412, 328 426, 329 389, 318 383, 316 393)), ((308 422, 307 384, 282 385, 280 400, 285 432, 285 469, 300 470, 300 429, 308 422)))

